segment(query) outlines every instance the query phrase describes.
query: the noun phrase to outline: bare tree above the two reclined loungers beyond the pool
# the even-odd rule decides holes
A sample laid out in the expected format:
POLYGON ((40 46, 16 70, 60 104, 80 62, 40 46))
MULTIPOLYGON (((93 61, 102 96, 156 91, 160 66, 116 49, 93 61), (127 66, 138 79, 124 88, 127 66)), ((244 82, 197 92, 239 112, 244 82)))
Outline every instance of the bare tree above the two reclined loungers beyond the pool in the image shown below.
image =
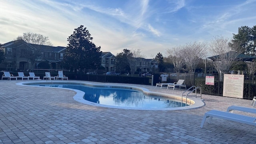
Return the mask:
POLYGON ((166 50, 166 55, 172 61, 174 70, 179 73, 184 66, 184 52, 181 46, 166 50))

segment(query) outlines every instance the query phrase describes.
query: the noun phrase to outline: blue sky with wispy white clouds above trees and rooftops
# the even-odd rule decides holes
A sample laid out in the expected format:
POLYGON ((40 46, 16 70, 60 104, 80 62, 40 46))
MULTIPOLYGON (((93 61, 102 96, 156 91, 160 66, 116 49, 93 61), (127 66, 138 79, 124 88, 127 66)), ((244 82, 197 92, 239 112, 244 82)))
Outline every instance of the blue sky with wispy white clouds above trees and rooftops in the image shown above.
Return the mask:
POLYGON ((154 58, 176 45, 232 38, 256 25, 255 8, 256 0, 2 0, 0 43, 33 32, 67 46, 83 25, 103 52, 140 49, 154 58))

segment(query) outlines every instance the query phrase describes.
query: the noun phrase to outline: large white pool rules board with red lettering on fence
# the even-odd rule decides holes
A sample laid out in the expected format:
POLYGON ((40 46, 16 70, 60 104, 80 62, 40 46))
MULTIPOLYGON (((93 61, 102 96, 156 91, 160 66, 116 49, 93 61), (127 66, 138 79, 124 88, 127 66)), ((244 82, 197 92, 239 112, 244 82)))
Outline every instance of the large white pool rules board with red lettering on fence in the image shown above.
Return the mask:
POLYGON ((244 75, 224 74, 223 96, 232 98, 243 98, 244 75))

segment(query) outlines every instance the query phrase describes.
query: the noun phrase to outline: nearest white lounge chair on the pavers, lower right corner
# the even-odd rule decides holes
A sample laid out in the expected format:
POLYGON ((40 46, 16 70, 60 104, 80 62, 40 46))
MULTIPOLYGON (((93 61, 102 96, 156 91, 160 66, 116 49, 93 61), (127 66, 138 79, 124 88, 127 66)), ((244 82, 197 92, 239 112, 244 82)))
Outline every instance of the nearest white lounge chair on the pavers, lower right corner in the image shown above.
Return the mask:
POLYGON ((244 116, 241 114, 233 114, 233 113, 229 113, 229 112, 222 112, 219 110, 210 110, 209 112, 206 112, 204 114, 204 118, 202 120, 202 123, 200 125, 201 128, 203 128, 204 126, 204 122, 206 120, 206 118, 209 118, 209 124, 212 122, 212 118, 216 117, 216 118, 222 118, 224 120, 231 120, 234 122, 240 122, 243 124, 250 124, 250 125, 254 125, 256 126, 256 118, 251 117, 251 116, 244 116))

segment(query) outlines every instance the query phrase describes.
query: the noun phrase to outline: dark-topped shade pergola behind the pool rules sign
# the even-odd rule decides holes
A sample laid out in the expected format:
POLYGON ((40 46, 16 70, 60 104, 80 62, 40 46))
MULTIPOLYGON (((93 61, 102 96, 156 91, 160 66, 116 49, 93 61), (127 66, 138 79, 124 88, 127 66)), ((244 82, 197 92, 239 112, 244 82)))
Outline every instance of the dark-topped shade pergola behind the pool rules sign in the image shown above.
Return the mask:
MULTIPOLYGON (((225 54, 220 54, 220 55, 208 57, 208 59, 212 60, 212 67, 213 67, 213 62, 219 61, 220 57, 225 57, 225 56, 228 57, 229 55, 231 55, 231 53, 234 55, 234 52, 227 52, 225 54)), ((253 60, 256 59, 256 57, 254 57, 254 56, 248 56, 248 55, 245 55, 245 54, 238 54, 237 52, 235 52, 235 53, 236 53, 235 55, 237 55, 236 58, 235 58, 236 61, 252 62, 253 60)), ((206 59, 205 59, 205 69, 204 69, 205 74, 206 74, 206 59)))

